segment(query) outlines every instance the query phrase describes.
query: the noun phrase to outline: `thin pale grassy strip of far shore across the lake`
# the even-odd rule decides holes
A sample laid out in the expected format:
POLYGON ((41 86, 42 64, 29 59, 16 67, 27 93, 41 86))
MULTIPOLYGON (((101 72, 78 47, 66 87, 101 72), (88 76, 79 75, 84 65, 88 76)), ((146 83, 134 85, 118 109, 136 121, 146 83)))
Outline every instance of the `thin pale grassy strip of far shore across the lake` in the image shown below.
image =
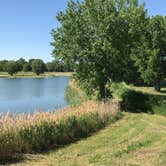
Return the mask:
POLYGON ((72 72, 45 72, 40 75, 36 75, 33 72, 18 72, 9 75, 7 72, 0 72, 0 78, 45 78, 45 77, 56 77, 56 76, 72 76, 72 72))

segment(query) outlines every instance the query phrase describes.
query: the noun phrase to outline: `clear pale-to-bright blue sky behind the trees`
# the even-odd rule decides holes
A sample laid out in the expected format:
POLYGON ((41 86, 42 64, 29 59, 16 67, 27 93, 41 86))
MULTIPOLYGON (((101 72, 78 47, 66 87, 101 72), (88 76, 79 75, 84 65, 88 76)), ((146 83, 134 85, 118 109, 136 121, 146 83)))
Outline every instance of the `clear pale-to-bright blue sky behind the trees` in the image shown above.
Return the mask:
MULTIPOLYGON (((166 0, 144 1, 150 15, 166 15, 166 0)), ((0 59, 51 61, 50 31, 66 5, 67 0, 0 0, 0 59)))

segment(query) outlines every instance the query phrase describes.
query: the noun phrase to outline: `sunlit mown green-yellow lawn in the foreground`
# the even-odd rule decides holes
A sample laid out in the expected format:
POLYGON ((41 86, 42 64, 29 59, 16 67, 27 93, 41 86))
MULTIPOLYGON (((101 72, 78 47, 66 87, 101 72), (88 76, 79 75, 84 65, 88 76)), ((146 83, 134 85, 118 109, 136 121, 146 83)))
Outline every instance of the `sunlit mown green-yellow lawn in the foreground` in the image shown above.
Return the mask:
POLYGON ((124 113, 93 136, 42 155, 26 155, 18 165, 165 166, 166 117, 124 113))

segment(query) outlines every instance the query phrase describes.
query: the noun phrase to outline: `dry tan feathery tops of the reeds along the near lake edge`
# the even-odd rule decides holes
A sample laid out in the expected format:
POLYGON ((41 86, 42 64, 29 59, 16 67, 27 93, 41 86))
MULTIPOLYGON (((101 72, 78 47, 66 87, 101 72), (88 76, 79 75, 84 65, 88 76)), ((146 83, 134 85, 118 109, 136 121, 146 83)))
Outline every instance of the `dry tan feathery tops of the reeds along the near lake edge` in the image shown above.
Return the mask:
POLYGON ((11 115, 9 112, 6 115, 0 116, 0 131, 6 131, 10 129, 21 129, 25 126, 31 127, 35 124, 40 124, 43 121, 58 123, 62 119, 66 119, 70 116, 81 117, 88 113, 99 113, 100 117, 105 115, 114 116, 119 111, 119 102, 117 100, 111 100, 106 103, 87 101, 81 106, 76 108, 67 107, 63 110, 54 112, 35 112, 34 114, 25 115, 11 115))

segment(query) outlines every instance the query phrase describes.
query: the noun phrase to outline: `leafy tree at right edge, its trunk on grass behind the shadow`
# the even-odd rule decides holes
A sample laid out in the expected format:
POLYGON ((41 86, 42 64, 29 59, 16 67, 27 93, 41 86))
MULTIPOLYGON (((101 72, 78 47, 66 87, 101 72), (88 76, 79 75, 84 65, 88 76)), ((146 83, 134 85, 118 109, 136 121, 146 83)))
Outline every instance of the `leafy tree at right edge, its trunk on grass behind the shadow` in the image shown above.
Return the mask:
POLYGON ((149 19, 146 32, 133 51, 133 59, 144 81, 160 91, 160 82, 166 76, 166 17, 149 19))

